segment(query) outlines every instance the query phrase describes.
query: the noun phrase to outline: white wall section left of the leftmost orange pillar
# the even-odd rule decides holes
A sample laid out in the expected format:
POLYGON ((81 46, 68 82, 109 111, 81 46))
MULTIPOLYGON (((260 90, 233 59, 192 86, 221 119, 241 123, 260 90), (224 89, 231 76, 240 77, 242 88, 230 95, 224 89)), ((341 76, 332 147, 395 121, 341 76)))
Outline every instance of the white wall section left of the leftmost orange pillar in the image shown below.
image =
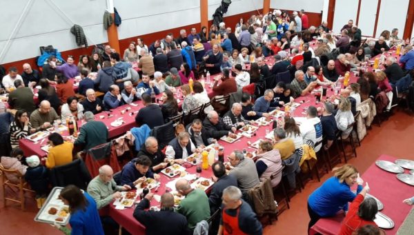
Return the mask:
MULTIPOLYGON (((5 48, 6 41, 28 2, 0 1, 0 52, 5 48)), ((28 12, 23 14, 20 27, 5 50, 6 54, 0 58, 0 63, 37 57, 41 45, 53 45, 60 51, 78 48, 74 35, 70 33, 70 28, 74 24, 71 21, 82 26, 88 43, 108 41, 102 25, 105 9, 106 1, 103 0, 32 0, 28 12), (69 19, 57 8, 60 8, 69 19)))

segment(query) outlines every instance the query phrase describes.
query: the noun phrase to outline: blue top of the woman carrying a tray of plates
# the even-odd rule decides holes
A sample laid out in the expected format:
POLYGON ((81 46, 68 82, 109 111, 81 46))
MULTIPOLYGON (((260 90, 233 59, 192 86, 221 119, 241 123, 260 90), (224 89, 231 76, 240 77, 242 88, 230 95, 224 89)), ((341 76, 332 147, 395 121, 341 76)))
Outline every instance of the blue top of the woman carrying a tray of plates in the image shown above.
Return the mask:
POLYGON ((70 234, 103 234, 101 218, 99 218, 97 210, 97 203, 95 203, 95 200, 93 200, 92 196, 87 192, 83 192, 83 196, 86 197, 88 205, 86 206, 85 211, 77 210, 70 214, 69 223, 70 227, 72 227, 70 234))

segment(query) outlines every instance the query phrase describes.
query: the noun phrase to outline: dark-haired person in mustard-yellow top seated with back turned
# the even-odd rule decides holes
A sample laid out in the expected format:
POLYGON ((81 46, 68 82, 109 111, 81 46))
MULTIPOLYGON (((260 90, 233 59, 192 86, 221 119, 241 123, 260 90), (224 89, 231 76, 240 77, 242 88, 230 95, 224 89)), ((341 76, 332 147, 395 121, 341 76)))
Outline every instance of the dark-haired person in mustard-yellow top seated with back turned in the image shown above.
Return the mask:
POLYGON ((72 162, 73 143, 63 141, 62 136, 55 132, 48 136, 48 144, 51 147, 46 158, 46 167, 50 169, 72 162))

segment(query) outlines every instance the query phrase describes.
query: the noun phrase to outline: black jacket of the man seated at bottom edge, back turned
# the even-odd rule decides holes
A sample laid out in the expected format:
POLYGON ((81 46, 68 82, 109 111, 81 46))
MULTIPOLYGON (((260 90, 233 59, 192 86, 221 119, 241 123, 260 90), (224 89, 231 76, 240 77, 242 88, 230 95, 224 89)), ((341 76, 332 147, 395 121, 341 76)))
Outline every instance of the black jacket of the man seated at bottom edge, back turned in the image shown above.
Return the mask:
POLYGON ((187 235, 186 216, 170 209, 161 209, 159 212, 145 211, 150 207, 150 201, 144 198, 134 211, 134 218, 146 227, 148 235, 187 235))

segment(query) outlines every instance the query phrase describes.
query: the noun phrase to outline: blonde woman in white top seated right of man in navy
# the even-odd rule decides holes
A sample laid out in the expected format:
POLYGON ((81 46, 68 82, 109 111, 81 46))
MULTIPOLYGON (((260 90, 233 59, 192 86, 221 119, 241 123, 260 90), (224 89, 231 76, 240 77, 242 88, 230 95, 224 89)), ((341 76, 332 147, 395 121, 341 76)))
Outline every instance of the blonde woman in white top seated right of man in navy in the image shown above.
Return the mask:
POLYGON ((335 115, 338 130, 342 131, 342 139, 348 138, 352 132, 352 126, 348 128, 355 120, 351 112, 351 101, 348 99, 341 99, 339 101, 339 108, 335 115))

